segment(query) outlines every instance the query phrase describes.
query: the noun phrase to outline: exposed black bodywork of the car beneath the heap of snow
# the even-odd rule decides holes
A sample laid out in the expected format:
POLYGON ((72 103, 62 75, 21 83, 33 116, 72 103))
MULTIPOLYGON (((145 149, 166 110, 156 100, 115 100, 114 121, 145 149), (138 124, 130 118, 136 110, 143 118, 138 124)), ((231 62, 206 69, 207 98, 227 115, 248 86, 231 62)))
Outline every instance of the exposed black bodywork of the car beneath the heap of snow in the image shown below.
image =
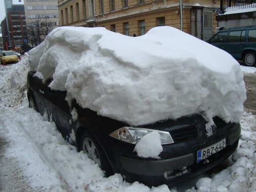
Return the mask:
POLYGON ((239 123, 225 123, 215 117, 210 135, 206 120, 199 114, 133 127, 82 109, 75 100, 68 103, 67 92, 51 90, 51 79, 43 83, 34 74, 29 72, 27 79, 30 108, 41 115, 47 113, 67 140, 74 132, 77 150, 87 153, 106 176, 120 173, 128 182, 170 186, 217 166, 238 146, 239 123), (160 159, 139 157, 134 151, 139 139, 136 132, 154 130, 165 137, 160 159))

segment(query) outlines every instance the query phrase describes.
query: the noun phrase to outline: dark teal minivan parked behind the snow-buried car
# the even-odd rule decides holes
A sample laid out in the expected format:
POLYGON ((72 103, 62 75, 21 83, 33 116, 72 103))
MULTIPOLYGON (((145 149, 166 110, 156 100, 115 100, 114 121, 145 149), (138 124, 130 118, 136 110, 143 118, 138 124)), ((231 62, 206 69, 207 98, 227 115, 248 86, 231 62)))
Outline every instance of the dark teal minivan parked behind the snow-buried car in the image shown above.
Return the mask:
POLYGON ((246 66, 255 66, 256 26, 222 30, 207 42, 223 49, 237 60, 243 60, 246 66))

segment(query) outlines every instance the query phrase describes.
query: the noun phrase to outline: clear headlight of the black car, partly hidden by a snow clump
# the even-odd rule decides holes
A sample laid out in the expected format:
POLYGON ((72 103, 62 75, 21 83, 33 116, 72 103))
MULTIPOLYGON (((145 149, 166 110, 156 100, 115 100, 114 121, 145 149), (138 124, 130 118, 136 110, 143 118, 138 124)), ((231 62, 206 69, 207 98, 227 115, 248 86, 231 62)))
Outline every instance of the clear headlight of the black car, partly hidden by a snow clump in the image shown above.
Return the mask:
POLYGON ((112 132, 110 136, 118 140, 125 141, 127 143, 137 144, 142 137, 154 131, 158 131, 161 139, 161 144, 174 143, 174 140, 172 136, 170 136, 169 132, 127 126, 124 126, 119 130, 112 132))

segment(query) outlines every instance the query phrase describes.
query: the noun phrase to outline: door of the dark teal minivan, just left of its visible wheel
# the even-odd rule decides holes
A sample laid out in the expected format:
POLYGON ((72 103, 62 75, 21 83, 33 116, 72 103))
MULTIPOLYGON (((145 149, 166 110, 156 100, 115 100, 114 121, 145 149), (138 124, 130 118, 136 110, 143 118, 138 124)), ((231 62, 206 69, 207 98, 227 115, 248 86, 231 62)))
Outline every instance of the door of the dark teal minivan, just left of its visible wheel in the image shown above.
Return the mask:
POLYGON ((242 51, 245 48, 246 30, 230 31, 224 50, 236 59, 242 58, 242 51))

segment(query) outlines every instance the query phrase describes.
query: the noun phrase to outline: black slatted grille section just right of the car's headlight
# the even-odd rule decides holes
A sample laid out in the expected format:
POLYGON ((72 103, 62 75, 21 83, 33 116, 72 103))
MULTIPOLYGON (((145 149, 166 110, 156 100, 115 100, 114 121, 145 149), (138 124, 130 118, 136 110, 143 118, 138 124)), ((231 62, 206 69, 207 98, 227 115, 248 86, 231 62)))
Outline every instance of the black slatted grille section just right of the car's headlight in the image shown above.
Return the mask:
POLYGON ((191 125, 179 128, 171 131, 170 135, 172 135, 175 143, 194 140, 197 139, 198 136, 197 127, 196 125, 191 125))

